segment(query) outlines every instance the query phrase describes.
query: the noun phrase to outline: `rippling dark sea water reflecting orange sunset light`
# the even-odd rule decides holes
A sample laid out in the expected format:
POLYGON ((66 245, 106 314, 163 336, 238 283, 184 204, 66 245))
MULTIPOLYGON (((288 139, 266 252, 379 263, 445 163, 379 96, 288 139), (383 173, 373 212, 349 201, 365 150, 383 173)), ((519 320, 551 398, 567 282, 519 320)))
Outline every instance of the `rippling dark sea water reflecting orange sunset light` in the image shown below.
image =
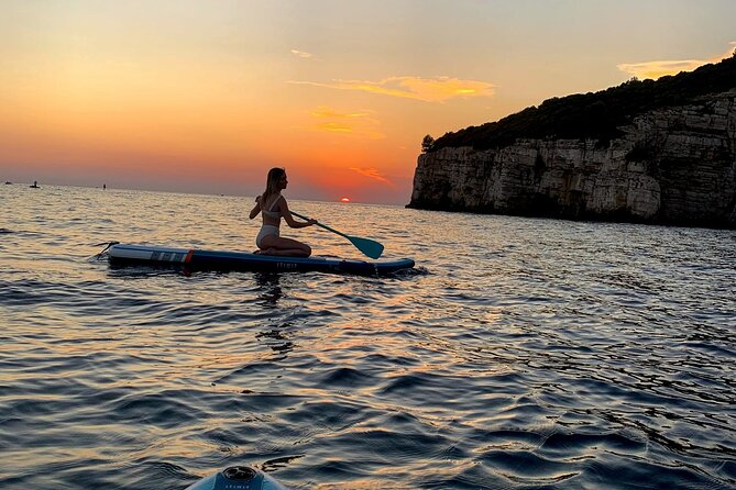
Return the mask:
MULTIPOLYGON (((0 188, 0 488, 736 486, 736 233, 290 201, 388 278, 110 269, 252 250, 252 199, 0 188)), ((317 227, 318 255, 360 258, 317 227)))

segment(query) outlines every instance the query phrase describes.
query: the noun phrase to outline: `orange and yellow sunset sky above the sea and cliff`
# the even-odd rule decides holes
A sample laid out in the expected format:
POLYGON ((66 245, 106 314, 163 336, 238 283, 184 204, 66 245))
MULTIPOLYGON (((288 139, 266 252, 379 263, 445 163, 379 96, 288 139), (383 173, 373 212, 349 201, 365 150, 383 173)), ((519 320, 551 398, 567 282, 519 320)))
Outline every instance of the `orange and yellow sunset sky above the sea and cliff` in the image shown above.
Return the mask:
POLYGON ((0 179, 405 204, 427 133, 730 53, 736 2, 692 9, 6 0, 0 179))

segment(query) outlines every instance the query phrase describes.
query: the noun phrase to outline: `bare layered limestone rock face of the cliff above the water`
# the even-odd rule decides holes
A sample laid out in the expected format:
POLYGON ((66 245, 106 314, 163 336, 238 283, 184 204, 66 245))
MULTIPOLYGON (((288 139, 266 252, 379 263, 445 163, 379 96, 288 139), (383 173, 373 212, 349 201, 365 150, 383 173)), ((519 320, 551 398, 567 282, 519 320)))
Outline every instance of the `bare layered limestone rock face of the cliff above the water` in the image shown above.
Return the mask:
POLYGON ((419 156, 409 208, 736 227, 736 91, 651 111, 597 141, 419 156))

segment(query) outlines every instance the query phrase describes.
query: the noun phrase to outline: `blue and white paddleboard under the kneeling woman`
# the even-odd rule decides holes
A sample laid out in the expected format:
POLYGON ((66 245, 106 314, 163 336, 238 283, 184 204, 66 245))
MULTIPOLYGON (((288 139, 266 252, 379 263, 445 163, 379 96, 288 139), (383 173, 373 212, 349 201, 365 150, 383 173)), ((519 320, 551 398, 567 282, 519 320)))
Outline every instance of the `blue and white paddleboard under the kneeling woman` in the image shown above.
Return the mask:
POLYGON ((150 245, 110 245, 106 252, 113 266, 180 266, 189 270, 319 271, 381 276, 414 267, 410 258, 349 260, 332 257, 277 257, 245 252, 201 250, 150 245))

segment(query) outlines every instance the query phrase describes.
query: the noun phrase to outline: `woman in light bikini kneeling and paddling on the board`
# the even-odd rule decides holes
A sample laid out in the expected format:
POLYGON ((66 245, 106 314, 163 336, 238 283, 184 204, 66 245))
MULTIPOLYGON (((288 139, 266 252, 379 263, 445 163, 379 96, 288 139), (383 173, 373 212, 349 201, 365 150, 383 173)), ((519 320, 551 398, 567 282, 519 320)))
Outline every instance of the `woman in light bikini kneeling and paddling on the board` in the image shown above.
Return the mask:
POLYGON ((255 237, 255 245, 259 247, 256 254, 309 257, 311 255, 309 245, 293 238, 284 238, 278 233, 282 216, 293 229, 303 229, 317 223, 316 220, 306 222, 294 220, 288 203, 281 192, 287 185, 286 170, 272 168, 266 178, 266 190, 255 198, 255 207, 251 210, 250 218, 252 220, 259 213, 263 214, 263 225, 255 237))

